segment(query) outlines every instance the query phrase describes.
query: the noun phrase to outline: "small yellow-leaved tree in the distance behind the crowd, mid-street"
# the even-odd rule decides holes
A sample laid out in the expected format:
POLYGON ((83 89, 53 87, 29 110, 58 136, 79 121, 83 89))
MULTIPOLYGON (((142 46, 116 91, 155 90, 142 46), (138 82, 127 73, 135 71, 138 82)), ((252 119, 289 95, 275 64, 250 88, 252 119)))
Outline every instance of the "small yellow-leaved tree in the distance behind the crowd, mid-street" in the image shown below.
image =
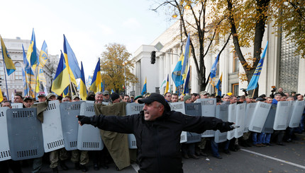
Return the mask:
POLYGON ((105 83, 105 90, 113 89, 116 93, 124 90, 124 68, 126 70, 126 85, 138 83, 138 78, 129 71, 129 68, 133 67, 133 63, 128 60, 131 53, 127 51, 126 47, 117 43, 109 43, 105 47, 106 51, 101 53, 101 78, 105 83))

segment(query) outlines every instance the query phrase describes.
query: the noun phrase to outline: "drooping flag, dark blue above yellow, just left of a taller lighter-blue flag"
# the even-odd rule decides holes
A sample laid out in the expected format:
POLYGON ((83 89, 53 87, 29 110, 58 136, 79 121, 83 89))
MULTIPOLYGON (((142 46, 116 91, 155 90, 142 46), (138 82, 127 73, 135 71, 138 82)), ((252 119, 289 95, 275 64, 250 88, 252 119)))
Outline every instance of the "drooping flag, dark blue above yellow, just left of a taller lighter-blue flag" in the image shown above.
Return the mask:
POLYGON ((67 66, 65 65, 65 58, 64 55, 61 53, 60 55, 60 62, 57 66, 57 71, 55 74, 55 78, 52 83, 52 91, 57 94, 61 95, 63 90, 67 88, 67 86, 70 85, 69 80, 69 73, 67 66))

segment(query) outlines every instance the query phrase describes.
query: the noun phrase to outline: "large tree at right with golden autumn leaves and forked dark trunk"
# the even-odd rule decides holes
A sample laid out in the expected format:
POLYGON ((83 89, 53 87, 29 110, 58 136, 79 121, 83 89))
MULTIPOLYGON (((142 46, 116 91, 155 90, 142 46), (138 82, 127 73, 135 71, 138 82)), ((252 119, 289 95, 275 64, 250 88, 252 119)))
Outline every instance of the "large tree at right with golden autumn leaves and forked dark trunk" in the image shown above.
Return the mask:
MULTIPOLYGON (((262 53, 262 38, 267 23, 275 21, 277 34, 284 32, 285 37, 296 43, 296 54, 304 57, 305 48, 305 8, 302 0, 214 0, 214 16, 227 16, 220 30, 230 30, 233 35, 234 50, 243 66, 242 80, 250 82, 262 53), (230 26, 228 28, 228 26, 230 26), (242 47, 253 47, 252 54, 242 52, 242 47)), ((253 91, 250 91, 250 94, 253 91)), ((258 95, 258 88, 255 96, 258 95)))

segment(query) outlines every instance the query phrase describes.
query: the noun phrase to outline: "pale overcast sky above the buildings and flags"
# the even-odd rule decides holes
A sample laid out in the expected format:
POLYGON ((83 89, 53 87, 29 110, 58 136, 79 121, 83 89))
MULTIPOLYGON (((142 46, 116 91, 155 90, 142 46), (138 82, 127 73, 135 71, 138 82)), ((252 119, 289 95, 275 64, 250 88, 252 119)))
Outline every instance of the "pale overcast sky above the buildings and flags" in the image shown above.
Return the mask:
POLYGON ((170 26, 164 11, 150 10, 154 4, 148 0, 1 1, 0 34, 30 40, 34 28, 37 48, 45 40, 49 54, 60 54, 65 34, 87 78, 106 44, 125 44, 133 54, 170 26))

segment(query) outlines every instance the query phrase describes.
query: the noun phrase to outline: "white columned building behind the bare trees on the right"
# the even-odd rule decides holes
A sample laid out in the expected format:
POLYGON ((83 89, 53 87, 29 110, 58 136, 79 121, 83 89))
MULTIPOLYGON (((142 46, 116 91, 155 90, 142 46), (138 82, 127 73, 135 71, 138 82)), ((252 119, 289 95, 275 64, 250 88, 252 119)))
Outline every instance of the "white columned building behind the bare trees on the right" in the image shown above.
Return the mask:
MULTIPOLYGON (((262 41, 262 48, 265 49, 267 41, 269 41, 269 46, 267 49, 267 54, 265 56, 264 65, 262 67, 262 72, 259 80, 259 95, 266 94, 270 95, 272 90, 272 85, 277 88, 284 88, 284 92, 296 91, 296 93, 305 93, 304 84, 305 81, 301 80, 304 78, 305 69, 305 59, 300 59, 299 56, 294 56, 294 45, 292 43, 287 44, 287 39, 279 35, 278 37, 273 34, 275 28, 272 28, 272 23, 267 25, 265 30, 265 35, 262 41)), ((170 76, 170 86, 171 91, 175 92, 174 83, 172 82, 172 71, 177 64, 180 54, 180 40, 179 37, 179 21, 174 23, 170 28, 157 37, 150 45, 141 45, 134 53, 133 61, 135 62, 135 67, 133 68, 133 73, 137 78, 139 78, 139 83, 131 85, 128 88, 128 93, 131 95, 140 95, 143 84, 145 82, 145 77, 147 77, 147 90, 148 93, 164 93, 164 88, 159 91, 159 87, 167 77, 170 76), (176 39, 175 39, 176 38, 176 39), (155 45, 160 42, 164 47, 157 52, 155 64, 150 64, 150 53, 155 49, 155 45), (170 53, 170 54, 168 54, 170 53), (177 55, 176 55, 177 54, 177 55)), ((184 44, 186 42, 184 37, 184 44)), ((226 38, 219 40, 219 47, 225 44, 226 38)), ((193 40, 193 44, 194 40, 193 40)), ((237 55, 233 51, 233 40, 228 42, 226 49, 223 50, 219 59, 219 68, 216 76, 216 83, 219 78, 219 73, 223 73, 222 82, 222 93, 233 93, 233 95, 243 95, 240 88, 247 88, 248 82, 242 82, 238 78, 238 73, 243 73, 243 68, 238 60, 237 55)), ((218 47, 214 47, 218 48, 218 47)), ((221 49, 221 48, 218 48, 221 49)), ((243 54, 248 52, 253 52, 253 47, 248 49, 242 49, 243 54)), ((198 54, 198 50, 195 50, 198 54)), ((208 54, 205 58, 206 66, 206 78, 209 76, 211 71, 211 66, 214 63, 218 52, 214 54, 208 54)), ((199 55, 197 55, 199 56, 199 55)), ((199 85, 197 83, 197 74, 194 67, 194 61, 192 57, 190 58, 191 64, 191 80, 189 88, 191 93, 199 93, 199 85)), ((209 86, 209 85, 208 85, 209 86)), ((214 93, 214 89, 208 87, 206 89, 209 93, 214 93)))

